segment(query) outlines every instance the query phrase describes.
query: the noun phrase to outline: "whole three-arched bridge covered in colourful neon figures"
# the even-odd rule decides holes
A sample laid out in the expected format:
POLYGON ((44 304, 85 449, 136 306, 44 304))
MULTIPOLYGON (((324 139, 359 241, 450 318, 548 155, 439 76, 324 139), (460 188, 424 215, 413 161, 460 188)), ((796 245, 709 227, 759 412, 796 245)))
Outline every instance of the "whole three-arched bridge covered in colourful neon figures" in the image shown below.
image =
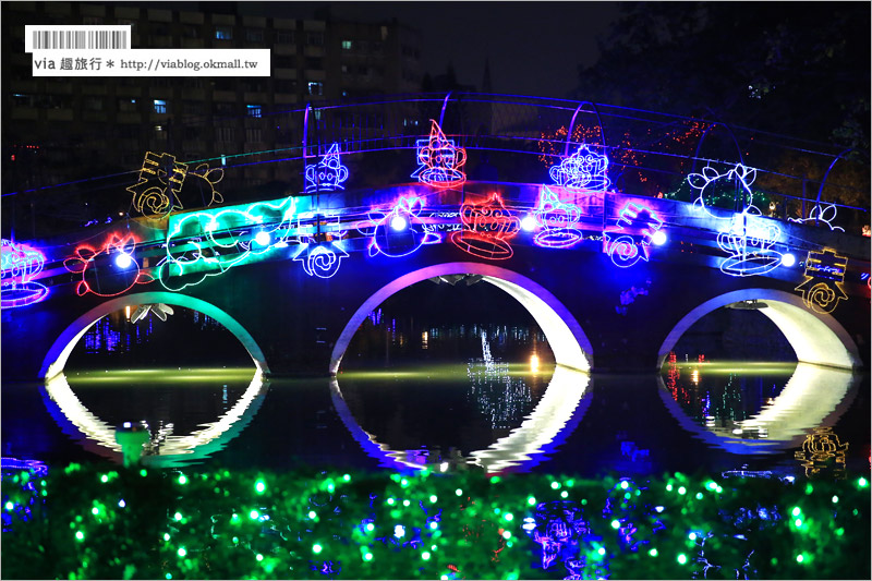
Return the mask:
POLYGON ((581 371, 658 370, 728 305, 759 308, 800 362, 869 365, 869 208, 840 202, 856 184, 835 180, 848 153, 495 95, 265 117, 293 120, 302 143, 192 161, 149 152, 118 184, 123 219, 4 240, 3 376, 50 378, 98 319, 161 304, 223 324, 264 373, 336 373, 366 316, 426 280, 501 289, 581 371), (786 152, 819 179, 790 173, 786 152), (296 182, 259 199, 225 187, 252 164, 296 182))

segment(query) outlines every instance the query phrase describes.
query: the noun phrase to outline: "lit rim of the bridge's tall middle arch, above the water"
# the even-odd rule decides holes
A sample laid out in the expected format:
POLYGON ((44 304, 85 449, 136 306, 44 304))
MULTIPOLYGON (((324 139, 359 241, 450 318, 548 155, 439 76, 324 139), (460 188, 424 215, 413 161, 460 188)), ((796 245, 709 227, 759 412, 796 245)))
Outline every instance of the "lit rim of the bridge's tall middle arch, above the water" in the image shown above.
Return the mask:
POLYGON ((550 292, 525 276, 498 266, 480 263, 447 263, 403 275, 370 296, 352 315, 336 341, 330 356, 330 374, 336 375, 346 349, 366 316, 388 296, 415 282, 448 275, 481 275, 483 280, 509 293, 536 320, 548 340, 558 365, 583 372, 590 371, 593 362, 593 346, 581 330, 576 317, 550 292))

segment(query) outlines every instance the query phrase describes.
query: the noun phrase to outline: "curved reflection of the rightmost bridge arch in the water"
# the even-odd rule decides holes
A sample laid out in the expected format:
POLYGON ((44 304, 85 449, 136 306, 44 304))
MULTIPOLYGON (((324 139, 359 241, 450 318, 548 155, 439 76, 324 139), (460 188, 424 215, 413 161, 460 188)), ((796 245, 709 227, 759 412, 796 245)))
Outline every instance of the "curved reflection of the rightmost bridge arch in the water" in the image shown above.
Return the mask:
POLYGON ((661 399, 681 427, 728 452, 760 455, 796 448, 812 429, 835 425, 857 395, 858 378, 844 370, 799 363, 778 397, 764 404, 760 413, 719 426, 694 422, 662 376, 657 382, 661 399))

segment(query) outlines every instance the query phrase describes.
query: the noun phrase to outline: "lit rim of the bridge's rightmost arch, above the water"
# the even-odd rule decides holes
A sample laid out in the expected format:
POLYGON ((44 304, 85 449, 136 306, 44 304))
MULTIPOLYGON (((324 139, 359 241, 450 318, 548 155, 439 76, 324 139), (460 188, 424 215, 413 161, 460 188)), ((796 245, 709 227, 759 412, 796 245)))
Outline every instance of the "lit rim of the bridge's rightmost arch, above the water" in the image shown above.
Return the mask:
POLYGON ((768 305, 760 312, 775 323, 801 363, 844 370, 862 366, 857 343, 833 315, 810 311, 797 294, 773 289, 742 289, 715 296, 685 315, 661 346, 657 368, 663 366, 678 339, 700 318, 715 308, 753 299, 768 305))

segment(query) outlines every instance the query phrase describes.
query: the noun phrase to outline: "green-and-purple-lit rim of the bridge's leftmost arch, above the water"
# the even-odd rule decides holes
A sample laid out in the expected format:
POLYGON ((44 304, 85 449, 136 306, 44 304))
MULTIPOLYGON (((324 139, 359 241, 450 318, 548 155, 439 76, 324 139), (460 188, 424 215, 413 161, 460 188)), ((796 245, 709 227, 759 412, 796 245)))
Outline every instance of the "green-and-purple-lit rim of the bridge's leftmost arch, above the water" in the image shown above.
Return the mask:
POLYGON ((63 367, 66 365, 66 360, 70 359, 70 353, 73 352, 73 348, 76 346, 76 343, 78 343, 78 340, 95 323, 106 315, 114 313, 116 311, 120 311, 125 306, 136 307, 143 304, 154 303, 184 306, 210 316, 223 325, 227 330, 232 332, 233 336, 239 339, 239 341, 251 355, 258 372, 262 374, 269 373, 269 366, 266 363, 264 352, 254 341, 254 338, 249 334, 249 331, 245 330, 245 328, 233 317, 217 306, 201 299, 195 299, 193 296, 187 296, 175 292, 161 291, 140 292, 110 299, 76 318, 51 344, 51 348, 48 350, 48 353, 43 361, 43 367, 39 370, 39 378, 51 379, 56 375, 63 373, 63 367))

